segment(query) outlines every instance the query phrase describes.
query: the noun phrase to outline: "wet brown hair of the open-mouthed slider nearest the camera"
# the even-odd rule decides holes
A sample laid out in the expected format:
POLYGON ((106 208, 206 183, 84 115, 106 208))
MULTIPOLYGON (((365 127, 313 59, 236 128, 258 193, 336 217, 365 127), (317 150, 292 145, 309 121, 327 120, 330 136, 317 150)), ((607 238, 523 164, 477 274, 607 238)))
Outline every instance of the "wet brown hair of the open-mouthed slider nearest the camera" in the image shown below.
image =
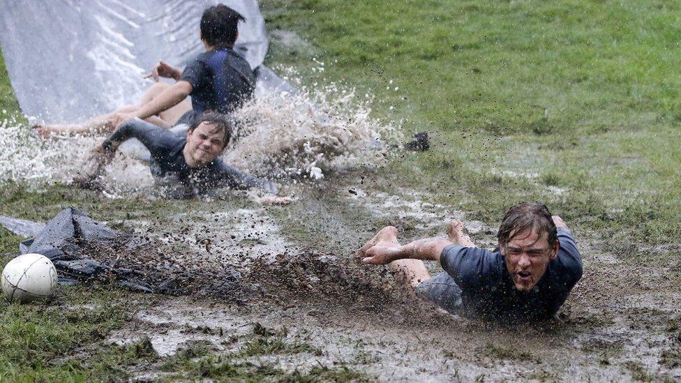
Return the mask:
POLYGON ((546 233, 548 246, 555 247, 558 234, 551 212, 545 204, 529 202, 521 202, 506 213, 497 233, 499 246, 506 246, 511 239, 528 229, 537 230, 539 236, 546 233))

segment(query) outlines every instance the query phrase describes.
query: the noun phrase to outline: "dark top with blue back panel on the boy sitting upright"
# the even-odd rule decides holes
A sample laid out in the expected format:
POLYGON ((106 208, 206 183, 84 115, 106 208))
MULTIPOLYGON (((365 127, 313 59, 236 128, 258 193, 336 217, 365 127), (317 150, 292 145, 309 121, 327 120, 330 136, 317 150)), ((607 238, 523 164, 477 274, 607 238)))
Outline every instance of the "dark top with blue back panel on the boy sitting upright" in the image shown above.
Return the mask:
POLYGON ((230 113, 255 91, 255 74, 248 61, 231 48, 199 54, 184 68, 180 81, 192 85, 195 116, 209 110, 230 113))

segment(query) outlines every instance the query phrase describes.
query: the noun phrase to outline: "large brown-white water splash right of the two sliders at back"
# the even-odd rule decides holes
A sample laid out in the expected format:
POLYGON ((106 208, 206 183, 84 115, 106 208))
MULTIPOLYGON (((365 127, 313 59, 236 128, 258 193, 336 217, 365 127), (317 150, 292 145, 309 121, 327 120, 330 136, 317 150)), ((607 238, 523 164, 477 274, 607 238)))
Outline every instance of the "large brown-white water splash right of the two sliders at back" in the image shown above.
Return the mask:
POLYGON ((401 131, 370 117, 372 98, 331 83, 297 94, 269 93, 235 114, 242 121, 225 160, 264 177, 319 179, 326 172, 380 163, 401 131))

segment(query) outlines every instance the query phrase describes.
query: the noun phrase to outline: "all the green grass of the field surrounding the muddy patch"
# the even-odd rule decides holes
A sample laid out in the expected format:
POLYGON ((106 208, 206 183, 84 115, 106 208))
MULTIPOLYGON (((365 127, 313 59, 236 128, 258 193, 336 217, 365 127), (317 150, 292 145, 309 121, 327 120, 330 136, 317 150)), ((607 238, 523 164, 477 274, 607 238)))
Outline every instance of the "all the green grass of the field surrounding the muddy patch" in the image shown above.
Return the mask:
MULTIPOLYGON (((266 0, 261 7, 275 36, 269 66, 299 68, 308 84, 343 82, 359 94, 371 93, 378 100, 376 117, 402 121, 407 134, 431 135, 431 150, 404 153, 387 169, 369 172, 375 188, 417 190, 429 202, 490 226, 514 202, 543 200, 588 241, 586 248, 622 262, 615 271, 624 281, 599 276, 596 269, 606 266, 585 254, 587 283, 608 289, 611 282, 627 283, 629 272, 638 278, 634 270, 654 267, 666 281, 659 288, 678 291, 679 3, 266 0), (285 43, 276 31, 294 33, 302 43, 285 43), (313 70, 319 66, 313 57, 324 62, 322 73, 313 70)), ((19 112, 0 60, 2 110, 19 112)), ((106 200, 66 186, 37 192, 9 184, 0 187, 0 197, 0 214, 33 220, 49 219, 72 204, 94 218, 110 211, 154 217, 169 209, 143 199, 106 200)), ((197 205, 172 202, 170 209, 197 205)), ((294 236, 304 242, 309 233, 301 227, 294 236)), ((13 254, 19 240, 0 229, 0 253, 13 254)), ((655 281, 646 283, 632 288, 654 291, 655 281)), ((103 346, 108 331, 154 301, 107 290, 90 296, 80 288, 64 289, 58 305, 0 303, 0 330, 8 334, 0 340, 0 380, 125 379, 131 366, 158 361, 144 345, 103 346), (77 306, 86 301, 96 309, 82 313, 77 306), (72 361, 75 349, 90 350, 91 361, 72 361)), ((577 302, 597 310, 597 301, 577 302)), ((666 355, 671 365, 681 360, 673 352, 666 355)), ((212 360, 202 362, 206 366, 168 363, 190 379, 255 374, 234 364, 220 370, 225 361, 212 360), (205 375, 207 370, 214 375, 205 375)), ((634 380, 669 377, 641 363, 622 369, 634 380)), ((268 371, 258 376, 303 378, 268 371)), ((324 380, 364 378, 348 370, 317 373, 324 380)))

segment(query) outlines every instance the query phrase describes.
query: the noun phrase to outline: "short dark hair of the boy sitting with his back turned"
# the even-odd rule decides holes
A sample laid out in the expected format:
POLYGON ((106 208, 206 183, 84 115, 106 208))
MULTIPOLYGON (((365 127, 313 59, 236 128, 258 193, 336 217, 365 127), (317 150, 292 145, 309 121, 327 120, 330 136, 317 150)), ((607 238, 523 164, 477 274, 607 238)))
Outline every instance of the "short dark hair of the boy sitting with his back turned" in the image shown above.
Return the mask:
POLYGON ((201 16, 201 38, 213 47, 232 47, 237 41, 237 25, 245 22, 236 10, 218 4, 203 11, 201 16))

